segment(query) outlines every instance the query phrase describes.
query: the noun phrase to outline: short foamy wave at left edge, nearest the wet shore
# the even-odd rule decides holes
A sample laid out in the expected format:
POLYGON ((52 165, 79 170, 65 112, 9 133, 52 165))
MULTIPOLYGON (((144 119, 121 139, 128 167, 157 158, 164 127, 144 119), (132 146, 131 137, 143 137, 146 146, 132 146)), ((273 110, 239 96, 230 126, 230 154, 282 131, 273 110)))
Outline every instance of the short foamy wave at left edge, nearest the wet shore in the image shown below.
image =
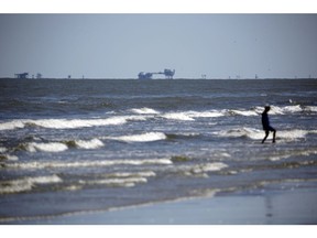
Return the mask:
POLYGON ((63 180, 57 175, 24 177, 12 181, 0 182, 0 194, 20 193, 31 191, 35 184, 62 183, 63 180))

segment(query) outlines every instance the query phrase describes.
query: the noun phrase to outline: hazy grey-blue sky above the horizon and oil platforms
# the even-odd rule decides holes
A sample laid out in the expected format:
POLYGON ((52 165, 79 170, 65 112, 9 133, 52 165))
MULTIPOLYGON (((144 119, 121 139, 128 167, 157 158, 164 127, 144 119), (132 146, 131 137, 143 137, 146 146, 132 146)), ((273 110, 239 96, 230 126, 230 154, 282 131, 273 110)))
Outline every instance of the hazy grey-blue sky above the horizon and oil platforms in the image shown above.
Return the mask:
POLYGON ((317 77, 317 14, 0 14, 0 77, 317 77))

